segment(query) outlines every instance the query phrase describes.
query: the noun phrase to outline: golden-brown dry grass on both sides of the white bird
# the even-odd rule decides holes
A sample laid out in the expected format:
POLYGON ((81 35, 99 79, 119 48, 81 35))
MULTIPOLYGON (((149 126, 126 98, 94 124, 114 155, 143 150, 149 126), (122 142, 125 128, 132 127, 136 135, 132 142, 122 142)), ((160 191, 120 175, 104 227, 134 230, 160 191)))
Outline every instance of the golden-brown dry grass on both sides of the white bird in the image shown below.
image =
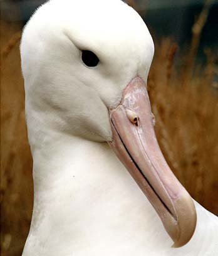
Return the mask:
MULTIPOLYGON (((19 24, 1 22, 2 256, 21 255, 33 208, 20 35, 19 24)), ((197 43, 195 40, 195 46, 197 43)), ((217 215, 218 87, 214 82, 217 53, 207 50, 207 64, 198 67, 194 65, 195 48, 185 52, 184 65, 178 68, 174 65, 177 46, 169 39, 157 44, 148 90, 158 141, 170 167, 190 195, 217 215)))

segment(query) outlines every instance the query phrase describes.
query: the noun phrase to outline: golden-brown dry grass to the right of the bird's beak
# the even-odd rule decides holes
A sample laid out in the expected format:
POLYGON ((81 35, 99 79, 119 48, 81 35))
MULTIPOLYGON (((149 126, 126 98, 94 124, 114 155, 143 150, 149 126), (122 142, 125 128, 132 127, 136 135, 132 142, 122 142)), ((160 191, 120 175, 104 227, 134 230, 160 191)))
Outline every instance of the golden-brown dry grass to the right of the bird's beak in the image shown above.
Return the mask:
POLYGON ((160 44, 148 80, 158 142, 171 169, 195 200, 218 215, 218 91, 215 58, 194 76, 172 67, 170 40, 160 44), (167 60, 170 59, 170 60, 167 60))

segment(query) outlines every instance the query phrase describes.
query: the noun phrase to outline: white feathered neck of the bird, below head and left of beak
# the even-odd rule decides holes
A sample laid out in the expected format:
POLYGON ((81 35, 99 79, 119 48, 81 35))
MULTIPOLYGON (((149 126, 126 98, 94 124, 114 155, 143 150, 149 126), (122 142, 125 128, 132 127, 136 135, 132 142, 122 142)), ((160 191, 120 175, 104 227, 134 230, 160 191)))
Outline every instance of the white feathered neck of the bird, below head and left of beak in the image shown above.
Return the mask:
POLYGON ((48 255, 68 255, 85 245, 94 248, 95 241, 110 247, 131 241, 137 247, 164 232, 108 144, 56 134, 34 148, 33 161, 34 210, 24 255, 28 250, 47 255, 45 244, 48 255), (60 244, 65 253, 57 253, 60 244))

